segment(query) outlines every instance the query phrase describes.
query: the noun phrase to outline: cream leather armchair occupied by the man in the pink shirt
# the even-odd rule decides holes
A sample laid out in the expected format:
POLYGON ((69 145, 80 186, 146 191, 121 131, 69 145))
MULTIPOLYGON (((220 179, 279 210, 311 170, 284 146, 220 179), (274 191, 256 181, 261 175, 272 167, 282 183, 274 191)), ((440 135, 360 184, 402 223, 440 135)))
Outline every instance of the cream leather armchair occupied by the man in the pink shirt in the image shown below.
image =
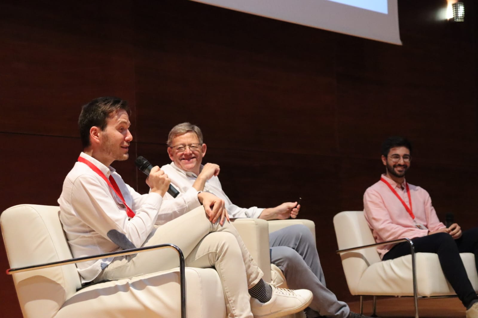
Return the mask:
MULTIPOLYGON (((345 211, 334 216, 337 244, 342 259, 348 289, 352 295, 413 296, 415 318, 418 318, 418 297, 456 295, 450 286, 435 253, 414 253, 395 259, 381 261, 372 232, 363 211, 345 211), (366 247, 366 248, 364 248, 366 247)), ((403 241, 403 240, 400 240, 403 241)), ((390 244, 390 243, 382 243, 390 244)), ((478 274, 475 256, 460 254, 468 278, 475 291, 478 289, 478 274)))

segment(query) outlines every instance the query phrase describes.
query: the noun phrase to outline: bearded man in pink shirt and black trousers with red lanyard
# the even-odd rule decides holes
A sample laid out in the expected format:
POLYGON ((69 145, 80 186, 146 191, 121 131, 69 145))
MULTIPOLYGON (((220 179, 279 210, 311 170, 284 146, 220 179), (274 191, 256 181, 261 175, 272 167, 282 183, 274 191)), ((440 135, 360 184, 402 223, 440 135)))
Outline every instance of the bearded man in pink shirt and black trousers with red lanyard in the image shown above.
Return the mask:
MULTIPOLYGON (((438 220, 428 192, 405 181, 411 153, 412 145, 402 137, 390 137, 382 144, 386 173, 365 191, 365 218, 377 243, 408 237, 415 252, 438 254, 446 279, 467 308, 467 318, 478 318, 478 296, 459 256, 474 253, 478 262, 478 228, 462 232, 458 224, 447 228, 438 220)), ((382 260, 410 254, 407 242, 377 250, 382 260)))

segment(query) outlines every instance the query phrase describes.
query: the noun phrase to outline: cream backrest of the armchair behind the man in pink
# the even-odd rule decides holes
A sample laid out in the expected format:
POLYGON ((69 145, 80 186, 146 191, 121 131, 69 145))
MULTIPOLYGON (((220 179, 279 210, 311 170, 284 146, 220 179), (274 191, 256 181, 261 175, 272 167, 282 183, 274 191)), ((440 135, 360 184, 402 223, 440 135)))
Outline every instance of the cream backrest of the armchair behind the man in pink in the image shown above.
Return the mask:
MULTIPOLYGON (((374 244, 372 232, 363 211, 344 211, 334 216, 338 249, 374 244)), ((363 272, 371 264, 380 262, 376 247, 341 253, 342 267, 348 289, 356 295, 355 289, 363 272)))

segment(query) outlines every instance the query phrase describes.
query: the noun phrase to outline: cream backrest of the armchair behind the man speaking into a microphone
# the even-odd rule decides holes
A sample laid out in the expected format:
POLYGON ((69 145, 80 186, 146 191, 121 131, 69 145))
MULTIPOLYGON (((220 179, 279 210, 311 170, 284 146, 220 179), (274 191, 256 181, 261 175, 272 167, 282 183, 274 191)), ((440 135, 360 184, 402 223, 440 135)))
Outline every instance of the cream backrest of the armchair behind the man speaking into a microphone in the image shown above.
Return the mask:
MULTIPOLYGON (((10 267, 72 258, 59 207, 15 205, 0 216, 10 267)), ((81 286, 74 264, 13 274, 24 318, 51 318, 81 286)))

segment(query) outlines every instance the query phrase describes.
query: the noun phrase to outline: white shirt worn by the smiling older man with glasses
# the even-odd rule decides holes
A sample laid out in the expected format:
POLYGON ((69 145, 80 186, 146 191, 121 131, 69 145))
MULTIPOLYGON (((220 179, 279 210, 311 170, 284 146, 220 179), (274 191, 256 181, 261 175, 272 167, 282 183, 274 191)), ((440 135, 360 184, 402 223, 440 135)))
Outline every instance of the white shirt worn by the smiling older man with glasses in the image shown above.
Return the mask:
MULTIPOLYGON (((201 165, 201 170, 203 169, 203 167, 204 165, 201 165)), ((180 169, 174 164, 174 162, 172 162, 171 164, 163 165, 161 167, 161 170, 163 170, 168 175, 168 177, 171 179, 171 184, 179 191, 180 195, 176 197, 176 200, 179 197, 186 195, 188 191, 191 191, 191 189, 194 189, 193 184, 197 178, 196 174, 180 169)), ((224 193, 224 191, 222 191, 222 186, 219 182, 219 178, 215 175, 213 175, 211 179, 206 181, 206 184, 204 185, 204 191, 210 192, 213 195, 216 195, 217 197, 224 200, 226 204, 226 210, 228 211, 230 218, 258 218, 259 215, 261 215, 262 213, 263 208, 258 208, 257 206, 252 206, 246 209, 232 204, 228 196, 224 193)), ((164 195, 164 203, 171 201, 171 199, 173 199, 171 195, 164 195)), ((163 206, 161 206, 161 211, 163 211, 163 206)))

